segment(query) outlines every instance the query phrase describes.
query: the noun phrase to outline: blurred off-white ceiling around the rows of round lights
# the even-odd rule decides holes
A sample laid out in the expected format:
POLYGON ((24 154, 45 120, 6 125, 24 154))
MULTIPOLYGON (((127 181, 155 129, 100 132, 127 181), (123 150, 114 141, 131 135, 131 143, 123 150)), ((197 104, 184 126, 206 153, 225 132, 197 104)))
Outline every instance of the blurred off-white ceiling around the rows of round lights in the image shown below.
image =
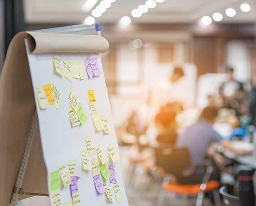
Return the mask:
MULTIPOLYGON (((96 0, 97 1, 97 0, 96 0)), ((25 20, 28 23, 81 23, 91 15, 84 8, 86 0, 24 0, 25 20)), ((165 0, 158 3, 142 17, 131 16, 132 9, 146 0, 116 0, 101 17, 99 23, 118 22, 123 16, 130 16, 138 23, 192 23, 204 15, 212 16, 215 12, 223 14, 226 23, 251 23, 256 21, 255 0, 165 0), (244 13, 239 9, 241 3, 251 5, 251 11, 244 13), (225 9, 232 7, 237 11, 235 17, 225 16, 225 9)), ((93 7, 95 8, 99 1, 93 7)))

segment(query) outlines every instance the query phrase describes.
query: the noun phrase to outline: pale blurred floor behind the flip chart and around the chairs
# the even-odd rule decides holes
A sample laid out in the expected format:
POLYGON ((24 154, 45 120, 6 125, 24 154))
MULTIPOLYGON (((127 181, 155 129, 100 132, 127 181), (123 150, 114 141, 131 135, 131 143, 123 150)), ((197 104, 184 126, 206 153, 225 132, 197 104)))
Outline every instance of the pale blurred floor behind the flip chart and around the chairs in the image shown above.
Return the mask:
MULTIPOLYGON (((157 206, 159 189, 161 185, 160 178, 150 178, 141 166, 137 166, 133 173, 130 184, 129 175, 131 174, 131 164, 127 158, 128 148, 120 148, 121 166, 123 170, 124 185, 130 206, 157 206)), ((192 200, 193 202, 193 200, 192 200)), ((194 203, 191 202, 191 206, 194 203)), ((190 206, 187 199, 175 194, 166 194, 162 206, 190 206)), ((205 199, 203 206, 211 204, 205 199)), ((50 206, 48 197, 31 197, 19 202, 18 206, 50 206)))

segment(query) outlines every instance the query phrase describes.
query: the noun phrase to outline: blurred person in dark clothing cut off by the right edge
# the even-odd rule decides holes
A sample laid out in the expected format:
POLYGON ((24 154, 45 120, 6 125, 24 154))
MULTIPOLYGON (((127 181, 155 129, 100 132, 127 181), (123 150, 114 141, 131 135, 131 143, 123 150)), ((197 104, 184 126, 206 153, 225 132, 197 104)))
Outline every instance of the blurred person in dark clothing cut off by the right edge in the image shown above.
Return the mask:
POLYGON ((252 77, 251 91, 249 94, 249 113, 251 117, 251 124, 256 126, 256 77, 252 77))

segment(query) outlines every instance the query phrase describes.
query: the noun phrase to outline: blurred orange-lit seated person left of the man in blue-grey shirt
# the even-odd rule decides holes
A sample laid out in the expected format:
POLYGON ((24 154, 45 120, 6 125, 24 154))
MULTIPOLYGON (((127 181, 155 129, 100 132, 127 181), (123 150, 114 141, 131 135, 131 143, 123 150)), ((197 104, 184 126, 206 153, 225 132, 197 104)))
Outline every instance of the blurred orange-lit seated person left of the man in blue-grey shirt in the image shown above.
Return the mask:
POLYGON ((158 129, 157 142, 159 144, 174 145, 177 139, 176 113, 171 110, 160 110, 155 116, 155 125, 158 129))

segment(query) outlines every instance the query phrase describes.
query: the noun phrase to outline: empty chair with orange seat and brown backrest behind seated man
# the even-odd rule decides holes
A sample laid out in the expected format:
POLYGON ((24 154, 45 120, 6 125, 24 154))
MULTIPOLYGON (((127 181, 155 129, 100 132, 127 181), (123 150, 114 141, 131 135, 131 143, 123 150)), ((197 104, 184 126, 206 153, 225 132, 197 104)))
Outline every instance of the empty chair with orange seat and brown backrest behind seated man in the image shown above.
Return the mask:
MULTIPOLYGON (((218 189, 220 182, 216 180, 210 180, 213 167, 210 161, 207 161, 206 172, 201 184, 195 185, 181 185, 176 183, 170 183, 170 174, 179 174, 190 166, 190 155, 187 148, 175 148, 175 147, 158 147, 155 148, 155 159, 158 167, 162 167, 167 173, 163 179, 162 187, 159 192, 158 206, 162 206, 166 193, 175 193, 178 195, 188 197, 190 204, 190 197, 197 196, 196 206, 203 205, 203 196, 205 192, 213 191, 215 205, 221 205, 218 189), (210 181, 209 181, 210 180, 210 181)), ((200 165, 202 166, 202 165, 200 165)))

